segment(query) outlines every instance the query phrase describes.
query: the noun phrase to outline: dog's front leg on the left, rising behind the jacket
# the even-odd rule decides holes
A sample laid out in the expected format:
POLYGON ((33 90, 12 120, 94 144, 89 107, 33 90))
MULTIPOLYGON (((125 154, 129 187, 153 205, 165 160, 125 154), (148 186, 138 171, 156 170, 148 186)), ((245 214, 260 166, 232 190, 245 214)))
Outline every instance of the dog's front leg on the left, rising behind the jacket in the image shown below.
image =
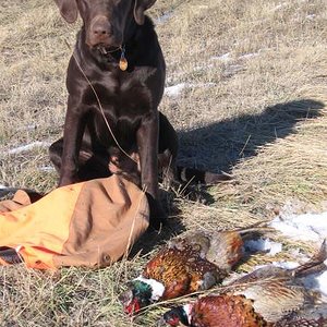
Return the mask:
POLYGON ((78 155, 85 129, 83 109, 83 105, 77 99, 69 96, 63 129, 63 150, 59 186, 78 182, 78 155))

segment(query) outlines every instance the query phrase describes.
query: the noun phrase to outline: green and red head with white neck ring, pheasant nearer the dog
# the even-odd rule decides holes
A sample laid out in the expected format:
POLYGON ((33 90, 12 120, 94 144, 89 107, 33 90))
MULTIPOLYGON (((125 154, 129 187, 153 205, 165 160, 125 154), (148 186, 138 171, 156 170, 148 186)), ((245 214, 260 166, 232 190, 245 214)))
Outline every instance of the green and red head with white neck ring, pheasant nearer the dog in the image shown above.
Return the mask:
POLYGON ((137 277, 129 283, 129 289, 119 296, 126 314, 133 315, 142 307, 159 300, 165 287, 155 279, 137 277))

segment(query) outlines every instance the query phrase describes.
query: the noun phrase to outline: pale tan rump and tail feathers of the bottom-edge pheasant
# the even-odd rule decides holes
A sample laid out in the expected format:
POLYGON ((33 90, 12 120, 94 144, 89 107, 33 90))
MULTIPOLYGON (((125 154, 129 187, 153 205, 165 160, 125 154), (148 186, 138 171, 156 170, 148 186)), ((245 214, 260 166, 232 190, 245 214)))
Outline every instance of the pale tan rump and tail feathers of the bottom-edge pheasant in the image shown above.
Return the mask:
POLYGON ((307 263, 294 269, 267 266, 229 283, 233 294, 243 294, 254 301, 253 307, 268 322, 276 323, 283 316, 317 302, 319 294, 305 288, 302 278, 327 267, 327 245, 307 263))

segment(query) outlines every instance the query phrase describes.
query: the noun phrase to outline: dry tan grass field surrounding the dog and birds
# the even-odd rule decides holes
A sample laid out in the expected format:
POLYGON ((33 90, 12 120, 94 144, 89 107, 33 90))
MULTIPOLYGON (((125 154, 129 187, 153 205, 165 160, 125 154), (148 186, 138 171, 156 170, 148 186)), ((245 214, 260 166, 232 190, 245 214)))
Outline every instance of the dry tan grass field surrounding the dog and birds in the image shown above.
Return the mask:
MULTIPOLYGON (((326 210, 326 1, 158 0, 149 15, 167 61, 160 110, 179 132, 179 162, 234 177, 205 190, 206 203, 166 194, 173 233, 271 219, 286 204, 326 210)), ((62 134, 65 41, 73 46, 80 24, 65 24, 50 0, 0 3, 0 184, 56 186, 47 146, 62 134)), ((169 237, 152 233, 152 252, 100 270, 0 267, 0 326, 154 326, 161 306, 132 322, 118 295, 169 237)), ((316 247, 269 237, 283 252, 255 255, 240 271, 316 247)))

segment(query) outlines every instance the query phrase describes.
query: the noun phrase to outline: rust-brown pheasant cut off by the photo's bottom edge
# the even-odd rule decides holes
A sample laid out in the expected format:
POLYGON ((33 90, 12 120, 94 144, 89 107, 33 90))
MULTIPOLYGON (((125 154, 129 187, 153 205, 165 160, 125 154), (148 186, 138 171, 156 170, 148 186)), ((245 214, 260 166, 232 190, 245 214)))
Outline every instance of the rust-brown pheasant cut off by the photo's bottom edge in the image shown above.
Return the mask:
POLYGON ((308 315, 318 294, 305 289, 303 277, 327 269, 327 244, 292 270, 259 268, 227 284, 226 293, 197 299, 167 312, 159 326, 300 327, 327 326, 327 304, 308 315), (303 311, 302 314, 300 311, 303 311), (182 325, 181 325, 182 324, 182 325))

